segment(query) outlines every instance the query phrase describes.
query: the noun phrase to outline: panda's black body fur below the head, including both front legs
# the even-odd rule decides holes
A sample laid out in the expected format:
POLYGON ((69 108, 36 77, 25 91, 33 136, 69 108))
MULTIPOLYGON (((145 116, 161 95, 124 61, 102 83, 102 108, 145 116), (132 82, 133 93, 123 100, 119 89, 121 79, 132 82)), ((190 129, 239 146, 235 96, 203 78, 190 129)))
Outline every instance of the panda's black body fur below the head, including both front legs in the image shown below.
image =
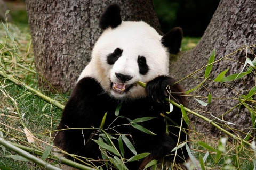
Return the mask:
MULTIPOLYGON (((90 77, 85 77, 76 84, 63 111, 58 130, 67 128, 99 128, 103 115, 108 112, 104 128, 107 129, 113 123, 110 128, 116 126, 114 128, 116 131, 106 130, 107 133, 117 134, 118 132, 131 135, 127 137, 129 137, 130 141, 134 142, 134 147, 138 154, 143 152, 151 153, 147 158, 139 162, 127 163, 126 166, 129 169, 143 169, 153 159, 158 160, 165 157, 166 160, 173 160, 175 152, 171 152, 171 150, 177 145, 182 114, 177 107, 174 107, 170 114, 166 114, 166 111, 169 111, 169 103, 164 100, 166 94, 165 86, 170 85, 171 98, 181 102, 181 104, 185 104, 185 97, 180 96, 183 90, 178 84, 172 86, 174 82, 174 79, 167 76, 157 77, 147 84, 146 91, 148 97, 122 103, 119 112, 120 116, 127 117, 130 120, 140 117, 156 117, 153 120, 138 123, 156 135, 146 134, 133 128, 131 125, 117 126, 129 124, 126 118, 118 118, 113 123, 116 118, 115 109, 119 101, 104 93, 100 84, 90 77), (169 134, 166 133, 166 120, 160 115, 161 113, 170 117, 175 122, 173 124, 167 121, 169 134)), ((187 125, 185 122, 183 122, 182 128, 186 131, 187 125)), ((185 131, 181 131, 180 142, 188 139, 185 131)), ((55 134, 54 145, 70 154, 101 159, 99 146, 91 140, 91 138, 98 140, 99 134, 100 132, 97 130, 83 130, 83 134, 81 129, 63 130, 55 134)), ((115 137, 118 138, 118 135, 115 137)), ((114 139, 113 141, 118 148, 118 142, 114 139)), ((132 156, 132 152, 125 148, 125 158, 132 156)), ((176 163, 183 162, 187 158, 186 149, 181 148, 178 150, 176 163)), ((103 168, 106 167, 103 166, 103 168)))

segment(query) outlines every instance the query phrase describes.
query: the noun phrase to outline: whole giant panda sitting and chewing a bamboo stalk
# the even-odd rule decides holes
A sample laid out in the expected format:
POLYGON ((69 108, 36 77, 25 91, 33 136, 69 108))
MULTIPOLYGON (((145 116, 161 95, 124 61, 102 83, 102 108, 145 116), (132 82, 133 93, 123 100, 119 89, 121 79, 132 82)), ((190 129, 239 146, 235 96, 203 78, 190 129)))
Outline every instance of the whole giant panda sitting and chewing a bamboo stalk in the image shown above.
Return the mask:
MULTIPOLYGON (((179 52, 182 29, 177 27, 161 36, 145 22, 122 21, 117 4, 111 4, 102 14, 100 28, 103 32, 65 106, 58 130, 99 128, 107 112, 104 124, 107 133, 116 138, 120 134, 126 135, 137 154, 150 153, 140 161, 127 162, 128 169, 143 169, 153 159, 164 158, 172 162, 175 157, 175 163, 180 164, 188 161, 185 147, 178 149, 177 156, 175 151, 171 152, 179 143, 188 140, 188 127, 185 122, 181 125, 179 108, 174 107, 170 114, 166 114, 170 106, 165 100, 171 98, 183 105, 186 102, 182 87, 174 84, 175 80, 169 76, 169 54, 179 52), (146 89, 137 81, 147 83, 146 89), (119 116, 123 117, 117 118, 115 111, 120 103, 119 116), (161 113, 174 123, 167 121, 161 113), (129 120, 142 117, 156 117, 137 123, 156 135, 129 124, 129 120)), ((98 140, 99 135, 95 129, 62 130, 55 134, 54 145, 70 154, 102 159, 99 145, 92 140, 98 140)), ((118 146, 118 141, 113 141, 118 146)), ((125 145, 124 149, 125 158, 134 156, 125 145)))

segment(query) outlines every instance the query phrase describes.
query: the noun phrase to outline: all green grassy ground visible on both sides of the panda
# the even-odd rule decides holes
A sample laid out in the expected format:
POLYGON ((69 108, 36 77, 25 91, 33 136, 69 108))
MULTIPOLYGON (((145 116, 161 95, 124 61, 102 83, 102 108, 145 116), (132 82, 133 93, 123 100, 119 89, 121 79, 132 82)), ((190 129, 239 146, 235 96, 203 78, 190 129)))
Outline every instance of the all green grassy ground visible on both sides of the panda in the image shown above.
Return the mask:
MULTIPOLYGON (((15 33, 14 41, 10 40, 3 25, 0 25, 0 72, 3 71, 6 74, 12 75, 14 78, 19 79, 20 82, 25 82, 28 86, 65 105, 66 100, 62 99, 60 95, 51 94, 51 92, 38 87, 34 53, 28 25, 17 27, 14 24, 9 24, 8 30, 11 36, 15 33)), ((193 49, 199 39, 185 37, 181 50, 193 49)), ((68 98, 69 94, 64 94, 64 96, 68 98)), ((51 141, 50 134, 52 130, 59 123, 62 109, 51 105, 41 97, 36 96, 33 92, 17 83, 9 81, 3 76, 0 76, 0 100, 0 137, 6 141, 44 151, 46 143, 51 141), (20 116, 23 116, 23 118, 19 118, 19 115, 16 113, 20 113, 20 116), (36 140, 33 145, 28 143, 26 135, 23 133, 24 126, 22 124, 35 136, 36 140)), ((252 100, 250 102, 248 105, 253 108, 252 114, 254 114, 255 118, 255 101, 252 100)), ((222 155, 215 162, 218 152, 202 147, 198 144, 198 141, 203 141, 215 150, 218 150, 219 139, 207 138, 202 134, 198 134, 196 131, 192 134, 191 151, 197 159, 199 159, 199 155, 204 157, 208 152, 209 156, 204 163, 207 167, 222 169, 225 166, 225 160, 231 160, 230 165, 234 169, 253 169, 255 151, 250 146, 240 145, 238 140, 231 140, 229 138, 230 140, 228 140, 222 155), (236 157, 238 158, 237 163, 235 163, 236 157)), ((0 147, 0 155, 0 169, 2 169, 1 166, 11 169, 43 169, 31 162, 20 162, 19 160, 5 157, 7 155, 17 154, 14 154, 10 149, 4 148, 3 146, 0 147)), ((51 162, 50 160, 47 161, 51 162)))

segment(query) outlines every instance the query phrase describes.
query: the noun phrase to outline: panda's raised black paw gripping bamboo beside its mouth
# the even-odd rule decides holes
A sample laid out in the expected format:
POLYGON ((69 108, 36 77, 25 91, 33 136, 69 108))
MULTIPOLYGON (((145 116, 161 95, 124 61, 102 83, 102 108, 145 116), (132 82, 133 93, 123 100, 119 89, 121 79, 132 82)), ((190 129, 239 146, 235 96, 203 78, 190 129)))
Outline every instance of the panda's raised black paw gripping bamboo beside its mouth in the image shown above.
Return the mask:
POLYGON ((149 81, 146 86, 146 93, 153 102, 165 103, 176 81, 166 75, 161 75, 149 81), (168 86, 170 85, 170 86, 168 86))

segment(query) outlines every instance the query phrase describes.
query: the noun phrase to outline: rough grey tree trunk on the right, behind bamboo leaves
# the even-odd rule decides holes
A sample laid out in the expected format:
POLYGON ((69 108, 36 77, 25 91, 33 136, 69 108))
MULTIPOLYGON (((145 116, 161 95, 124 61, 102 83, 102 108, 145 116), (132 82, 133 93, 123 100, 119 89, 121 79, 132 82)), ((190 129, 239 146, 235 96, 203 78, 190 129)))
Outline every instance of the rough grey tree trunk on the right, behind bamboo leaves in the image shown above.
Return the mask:
MULTIPOLYGON (((215 61, 222 57, 235 52, 242 46, 249 46, 256 43, 256 1, 255 0, 222 0, 215 11, 209 26, 205 30, 202 39, 197 46, 187 53, 181 54, 177 61, 171 62, 170 74, 177 80, 185 78, 190 73, 200 69, 207 64, 209 57, 215 49, 215 61)), ((217 117, 229 109, 236 106, 239 101, 238 94, 247 95, 250 89, 255 86, 255 74, 251 73, 244 78, 226 83, 214 82, 222 71, 229 68, 226 75, 239 73, 243 70, 243 63, 245 63, 246 56, 251 60, 255 58, 255 46, 250 50, 242 50, 234 55, 230 55, 225 60, 220 60, 212 67, 212 72, 209 80, 201 87, 189 95, 205 96, 209 93, 212 95, 212 102, 207 107, 199 104, 194 97, 189 97, 190 109, 202 115, 214 119, 210 113, 217 117), (254 54, 253 54, 254 52, 254 54), (241 62, 241 63, 239 63, 241 62), (223 99, 225 98, 225 99, 223 99), (231 98, 231 99, 230 99, 231 98), (204 111, 204 112, 203 112, 204 111)), ((186 90, 195 88, 204 79, 204 70, 191 75, 189 78, 181 81, 182 86, 186 90)), ((243 72, 246 71, 246 68, 243 72)), ((240 96, 241 97, 241 96, 240 96)), ((198 98, 198 97, 197 97, 198 98)), ((206 101, 207 98, 198 98, 206 101)), ((254 98, 255 99, 255 98, 254 98)), ((225 121, 234 123, 233 128, 247 132, 252 125, 250 112, 243 106, 236 107, 226 115, 223 115, 225 121)), ((218 136, 220 131, 215 129, 209 122, 203 121, 201 118, 191 116, 191 120, 196 122, 196 130, 204 134, 213 134, 218 136)), ((221 118, 221 117, 220 117, 221 118)), ((223 122, 220 122, 223 124, 223 122)), ((237 131, 236 131, 237 132, 237 131)), ((242 134, 241 132, 238 132, 242 134)))

